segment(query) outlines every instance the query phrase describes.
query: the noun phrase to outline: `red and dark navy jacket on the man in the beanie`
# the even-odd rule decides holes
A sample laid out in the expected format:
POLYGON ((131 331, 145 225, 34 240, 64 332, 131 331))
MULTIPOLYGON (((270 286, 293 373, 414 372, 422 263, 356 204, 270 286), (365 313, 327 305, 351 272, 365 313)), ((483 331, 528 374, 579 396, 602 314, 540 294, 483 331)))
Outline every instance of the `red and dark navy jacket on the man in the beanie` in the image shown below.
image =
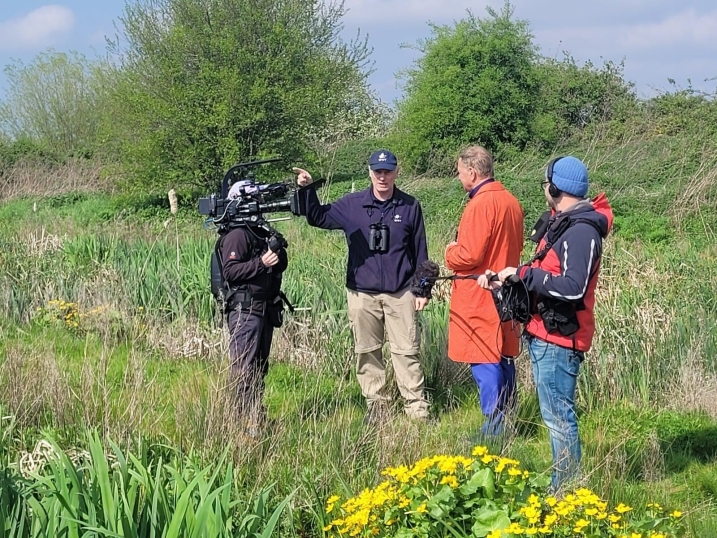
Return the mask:
POLYGON ((604 194, 594 200, 578 203, 573 209, 554 214, 548 230, 538 244, 538 251, 559 236, 540 259, 518 269, 536 303, 570 303, 575 306, 579 328, 565 336, 548 331, 539 313, 533 315, 525 330, 541 340, 562 347, 588 351, 595 334, 595 286, 597 285, 602 241, 612 227, 612 208, 604 194), (564 220, 569 219, 566 226, 564 220))

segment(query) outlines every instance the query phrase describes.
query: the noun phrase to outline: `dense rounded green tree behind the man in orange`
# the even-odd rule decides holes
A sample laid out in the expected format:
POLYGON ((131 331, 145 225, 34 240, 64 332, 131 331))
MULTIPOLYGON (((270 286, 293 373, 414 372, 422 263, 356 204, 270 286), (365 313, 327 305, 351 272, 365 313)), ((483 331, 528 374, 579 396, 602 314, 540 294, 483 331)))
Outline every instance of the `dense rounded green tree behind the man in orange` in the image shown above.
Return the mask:
POLYGON ((513 19, 509 3, 487 11, 434 25, 405 73, 396 145, 418 172, 445 171, 468 143, 496 150, 531 140, 540 88, 528 23, 513 19))

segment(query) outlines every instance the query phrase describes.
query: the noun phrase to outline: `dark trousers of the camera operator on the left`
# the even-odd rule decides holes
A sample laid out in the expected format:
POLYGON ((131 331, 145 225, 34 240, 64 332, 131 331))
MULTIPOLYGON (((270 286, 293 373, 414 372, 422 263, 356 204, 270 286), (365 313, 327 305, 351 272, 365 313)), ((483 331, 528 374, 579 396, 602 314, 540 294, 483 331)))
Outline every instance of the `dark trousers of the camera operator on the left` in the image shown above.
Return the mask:
POLYGON ((230 386, 239 417, 262 419, 264 377, 274 327, 261 311, 239 308, 226 315, 229 327, 230 386))

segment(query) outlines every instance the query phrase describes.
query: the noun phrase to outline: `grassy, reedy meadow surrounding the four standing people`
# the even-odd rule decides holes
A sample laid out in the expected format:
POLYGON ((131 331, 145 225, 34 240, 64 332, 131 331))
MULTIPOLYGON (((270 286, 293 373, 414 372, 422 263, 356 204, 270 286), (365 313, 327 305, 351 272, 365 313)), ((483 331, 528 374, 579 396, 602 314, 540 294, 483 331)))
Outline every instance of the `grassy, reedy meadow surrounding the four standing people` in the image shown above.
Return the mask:
MULTIPOLYGON (((697 223, 715 222, 715 214, 704 205, 675 212, 679 185, 699 169, 692 143, 598 141, 583 152, 595 190, 607 191, 617 218, 579 406, 588 485, 611 501, 680 508, 691 536, 710 536, 717 533, 717 269, 710 228, 697 223)), ((526 155, 497 170, 523 202, 527 227, 544 207, 543 161, 526 155)), ((420 198, 429 252, 441 261, 465 194, 453 179, 401 181, 420 198)), ((355 181, 357 189, 366 185, 355 181)), ((337 182, 324 196, 350 189, 350 181, 337 182)), ((261 495, 275 484, 276 506, 298 488, 282 529, 315 536, 316 514, 332 492, 375 485, 389 465, 470 450, 482 419, 470 376, 445 358, 445 287, 421 315, 438 424, 414 424, 396 409, 384 427, 363 426, 340 232, 299 219, 277 223, 290 243, 286 292, 310 310, 290 316, 275 334, 270 429, 247 441, 227 402, 225 338, 209 296, 216 234, 202 229, 193 207, 170 217, 157 197, 63 195, 6 202, 0 222, 0 407, 12 417, 0 420, 0 467, 41 438, 86 446, 88 428, 123 449, 177 447, 200 466, 228 449, 236 495, 261 495), (78 327, 48 319, 55 299, 88 315, 78 327)), ((525 355, 518 365, 517 434, 505 451, 542 472, 549 444, 525 355)))

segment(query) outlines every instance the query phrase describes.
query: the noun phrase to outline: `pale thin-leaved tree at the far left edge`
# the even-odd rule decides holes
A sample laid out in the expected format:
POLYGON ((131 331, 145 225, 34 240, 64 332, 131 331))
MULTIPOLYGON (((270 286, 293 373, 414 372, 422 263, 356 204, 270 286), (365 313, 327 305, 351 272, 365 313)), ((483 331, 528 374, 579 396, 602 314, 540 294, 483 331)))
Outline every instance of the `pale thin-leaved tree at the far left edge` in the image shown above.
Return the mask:
POLYGON ((60 158, 91 152, 100 124, 96 69, 81 54, 54 51, 9 64, 0 130, 60 158))

